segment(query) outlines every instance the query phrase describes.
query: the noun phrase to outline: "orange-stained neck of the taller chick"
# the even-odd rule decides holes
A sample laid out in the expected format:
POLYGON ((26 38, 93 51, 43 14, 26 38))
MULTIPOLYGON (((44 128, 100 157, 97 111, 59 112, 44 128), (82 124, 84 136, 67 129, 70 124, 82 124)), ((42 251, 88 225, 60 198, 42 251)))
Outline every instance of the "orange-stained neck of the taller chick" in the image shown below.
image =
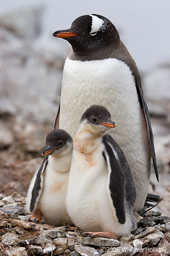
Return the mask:
POLYGON ((99 131, 96 126, 81 124, 74 139, 74 150, 81 154, 92 154, 102 142, 105 132, 99 131))

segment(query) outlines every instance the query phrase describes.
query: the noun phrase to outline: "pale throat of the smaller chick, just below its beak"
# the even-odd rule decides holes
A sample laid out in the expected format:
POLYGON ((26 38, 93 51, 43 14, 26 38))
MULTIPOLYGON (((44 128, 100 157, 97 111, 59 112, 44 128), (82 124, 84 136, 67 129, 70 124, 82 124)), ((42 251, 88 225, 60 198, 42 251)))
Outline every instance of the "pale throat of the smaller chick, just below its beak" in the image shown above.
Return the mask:
POLYGON ((66 154, 61 156, 58 156, 57 154, 48 156, 48 163, 56 172, 69 172, 72 152, 70 150, 67 151, 66 154))

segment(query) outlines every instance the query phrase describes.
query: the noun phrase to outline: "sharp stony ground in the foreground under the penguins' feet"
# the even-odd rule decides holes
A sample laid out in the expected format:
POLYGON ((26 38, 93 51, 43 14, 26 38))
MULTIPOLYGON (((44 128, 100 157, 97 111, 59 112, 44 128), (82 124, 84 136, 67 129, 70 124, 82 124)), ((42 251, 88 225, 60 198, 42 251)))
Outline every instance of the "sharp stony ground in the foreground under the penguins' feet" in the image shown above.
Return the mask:
POLYGON ((119 240, 90 238, 68 226, 53 227, 30 221, 25 198, 0 195, 0 255, 170 255, 170 217, 160 211, 137 216, 138 226, 119 240))

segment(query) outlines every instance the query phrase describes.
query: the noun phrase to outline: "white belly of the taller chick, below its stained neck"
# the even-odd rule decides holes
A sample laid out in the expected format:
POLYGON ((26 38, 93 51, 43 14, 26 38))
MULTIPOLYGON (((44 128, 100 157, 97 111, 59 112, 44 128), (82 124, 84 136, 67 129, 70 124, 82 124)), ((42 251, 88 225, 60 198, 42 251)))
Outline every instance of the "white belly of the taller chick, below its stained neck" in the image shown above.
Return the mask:
POLYGON ((108 231, 121 236, 129 232, 131 221, 126 216, 127 222, 122 225, 115 219, 107 194, 107 166, 102 152, 96 155, 99 164, 89 167, 82 155, 74 153, 66 197, 68 214, 83 231, 108 231))

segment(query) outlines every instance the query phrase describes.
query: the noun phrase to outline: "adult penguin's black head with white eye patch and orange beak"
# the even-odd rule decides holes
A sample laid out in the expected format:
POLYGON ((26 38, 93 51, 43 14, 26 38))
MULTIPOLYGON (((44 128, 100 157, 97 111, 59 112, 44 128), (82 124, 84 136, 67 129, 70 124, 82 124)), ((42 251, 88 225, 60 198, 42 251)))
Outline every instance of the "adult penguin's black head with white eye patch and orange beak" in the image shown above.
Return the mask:
POLYGON ((104 16, 89 14, 78 17, 70 29, 58 30, 55 37, 67 40, 76 54, 90 54, 110 45, 119 44, 120 38, 114 25, 104 16))

